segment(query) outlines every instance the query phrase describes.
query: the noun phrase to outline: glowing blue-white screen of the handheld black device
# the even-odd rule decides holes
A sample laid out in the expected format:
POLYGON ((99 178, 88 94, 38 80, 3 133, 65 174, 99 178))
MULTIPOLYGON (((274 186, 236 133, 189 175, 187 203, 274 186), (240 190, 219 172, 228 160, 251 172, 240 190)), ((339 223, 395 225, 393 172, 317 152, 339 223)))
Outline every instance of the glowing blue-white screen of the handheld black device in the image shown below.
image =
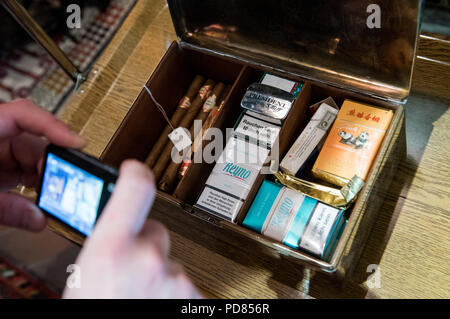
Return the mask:
POLYGON ((104 181, 48 153, 39 207, 89 236, 97 220, 104 181))

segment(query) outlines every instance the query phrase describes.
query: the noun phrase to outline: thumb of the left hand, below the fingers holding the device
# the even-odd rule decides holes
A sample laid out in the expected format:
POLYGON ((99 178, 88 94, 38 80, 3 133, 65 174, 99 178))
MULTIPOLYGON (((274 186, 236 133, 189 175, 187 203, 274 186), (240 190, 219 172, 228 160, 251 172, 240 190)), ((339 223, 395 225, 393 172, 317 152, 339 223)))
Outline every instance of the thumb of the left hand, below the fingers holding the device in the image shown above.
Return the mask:
POLYGON ((47 225, 47 218, 25 197, 0 193, 0 224, 38 232, 47 225))

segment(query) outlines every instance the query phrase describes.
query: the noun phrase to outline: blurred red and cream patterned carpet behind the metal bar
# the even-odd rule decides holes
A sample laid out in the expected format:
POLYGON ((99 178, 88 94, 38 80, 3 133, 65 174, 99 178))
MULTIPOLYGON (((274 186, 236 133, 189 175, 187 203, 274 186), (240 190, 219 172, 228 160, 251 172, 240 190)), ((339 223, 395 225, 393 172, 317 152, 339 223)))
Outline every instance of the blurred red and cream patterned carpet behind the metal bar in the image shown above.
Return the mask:
MULTIPOLYGON (((88 7, 83 12, 82 27, 70 36, 54 40, 74 64, 85 71, 109 43, 136 0, 112 0, 105 12, 88 7)), ((0 103, 30 98, 50 112, 56 112, 74 83, 36 43, 16 48, 0 60, 0 103)))

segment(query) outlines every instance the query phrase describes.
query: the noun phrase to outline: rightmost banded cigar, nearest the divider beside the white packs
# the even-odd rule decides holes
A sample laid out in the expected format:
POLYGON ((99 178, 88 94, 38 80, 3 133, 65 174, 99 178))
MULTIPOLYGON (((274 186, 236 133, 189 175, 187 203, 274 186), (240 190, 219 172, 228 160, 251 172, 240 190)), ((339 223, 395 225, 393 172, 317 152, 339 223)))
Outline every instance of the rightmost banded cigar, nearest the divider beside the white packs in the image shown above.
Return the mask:
MULTIPOLYGON (((205 103, 203 104, 203 107, 196 118, 196 120, 202 121, 203 126, 205 124, 205 120, 212 113, 212 110, 214 110, 214 108, 216 108, 217 101, 221 100, 221 97, 224 96, 223 92, 224 92, 225 88, 226 88, 226 86, 223 83, 216 84, 214 86, 214 89, 211 92, 211 95, 208 97, 208 99, 206 99, 205 103)), ((215 113, 216 112, 214 112, 214 114, 215 113)), ((190 134, 193 137, 192 140, 196 141, 197 137, 200 136, 200 140, 197 141, 197 143, 201 143, 202 131, 203 131, 203 127, 199 130, 199 132, 194 132, 194 125, 191 125, 190 134)), ((192 145, 189 150, 189 154, 188 154, 189 159, 191 158, 193 148, 194 148, 194 145, 192 145)), ((161 180, 158 184, 159 189, 161 189, 162 191, 165 191, 165 192, 172 191, 174 184, 177 181, 180 166, 182 166, 182 163, 171 162, 169 164, 166 171, 164 172, 163 177, 161 178, 161 180)))

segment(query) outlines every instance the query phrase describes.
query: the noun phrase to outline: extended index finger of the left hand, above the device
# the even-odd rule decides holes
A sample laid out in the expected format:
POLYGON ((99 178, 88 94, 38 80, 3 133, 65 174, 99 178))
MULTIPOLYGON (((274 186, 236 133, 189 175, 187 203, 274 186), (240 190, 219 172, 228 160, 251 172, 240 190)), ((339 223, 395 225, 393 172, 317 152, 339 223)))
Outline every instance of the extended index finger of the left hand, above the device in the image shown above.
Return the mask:
POLYGON ((85 142, 62 121, 28 100, 0 104, 0 138, 28 132, 62 147, 80 148, 85 142))

